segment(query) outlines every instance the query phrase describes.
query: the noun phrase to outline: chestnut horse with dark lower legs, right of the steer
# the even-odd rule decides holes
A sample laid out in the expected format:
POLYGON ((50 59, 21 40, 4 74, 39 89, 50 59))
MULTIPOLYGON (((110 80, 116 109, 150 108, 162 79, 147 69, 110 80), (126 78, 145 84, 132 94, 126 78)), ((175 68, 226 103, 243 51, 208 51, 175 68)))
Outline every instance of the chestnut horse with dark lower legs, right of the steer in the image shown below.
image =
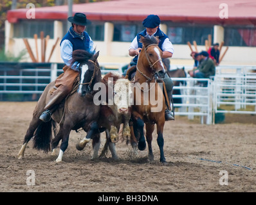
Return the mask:
MULTIPOLYGON (((149 160, 154 160, 152 152, 152 133, 154 124, 157 129, 157 142, 160 148, 160 161, 165 163, 163 152, 163 127, 165 125, 165 97, 163 95, 163 84, 156 80, 164 78, 166 73, 162 61, 162 51, 158 47, 158 37, 141 37, 143 44, 138 58, 137 69, 134 76, 134 105, 132 106, 131 123, 131 145, 141 151, 146 148, 143 127, 145 123, 146 138, 149 147, 149 160), (161 89, 162 88, 162 89, 161 89), (145 97, 147 96, 147 97, 145 97), (133 126, 132 126, 133 124, 133 126)), ((128 78, 129 69, 125 78, 128 78)))

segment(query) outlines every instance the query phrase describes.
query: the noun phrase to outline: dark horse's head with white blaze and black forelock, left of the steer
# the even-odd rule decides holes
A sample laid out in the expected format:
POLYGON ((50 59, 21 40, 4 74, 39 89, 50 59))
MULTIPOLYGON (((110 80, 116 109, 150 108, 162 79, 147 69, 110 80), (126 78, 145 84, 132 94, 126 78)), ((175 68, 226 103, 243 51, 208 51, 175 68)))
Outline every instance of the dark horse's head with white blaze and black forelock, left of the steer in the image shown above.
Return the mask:
POLYGON ((95 83, 101 79, 100 67, 98 65, 99 51, 96 54, 84 50, 73 51, 71 63, 77 63, 79 72, 78 94, 84 97, 91 94, 95 83))

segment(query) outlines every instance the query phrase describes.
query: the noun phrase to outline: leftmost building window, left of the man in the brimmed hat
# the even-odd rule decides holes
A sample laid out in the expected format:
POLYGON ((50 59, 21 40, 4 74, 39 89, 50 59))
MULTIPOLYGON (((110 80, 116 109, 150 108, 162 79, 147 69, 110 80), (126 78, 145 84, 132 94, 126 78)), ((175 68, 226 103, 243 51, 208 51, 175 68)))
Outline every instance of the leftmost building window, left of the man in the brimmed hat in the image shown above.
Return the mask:
POLYGON ((14 38, 33 38, 34 34, 40 38, 41 31, 44 31, 44 37, 53 38, 53 30, 53 21, 22 20, 14 24, 14 38))

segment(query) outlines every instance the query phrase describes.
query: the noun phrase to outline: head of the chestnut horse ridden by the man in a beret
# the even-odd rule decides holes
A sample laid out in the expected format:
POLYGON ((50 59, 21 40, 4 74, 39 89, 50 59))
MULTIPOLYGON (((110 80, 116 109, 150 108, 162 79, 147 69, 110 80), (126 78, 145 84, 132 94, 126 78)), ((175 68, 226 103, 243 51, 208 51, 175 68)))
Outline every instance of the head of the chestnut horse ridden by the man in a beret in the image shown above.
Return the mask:
POLYGON ((166 69, 163 64, 163 51, 158 47, 158 37, 141 37, 143 48, 139 58, 143 58, 143 67, 148 67, 152 74, 157 74, 159 78, 164 78, 166 69))

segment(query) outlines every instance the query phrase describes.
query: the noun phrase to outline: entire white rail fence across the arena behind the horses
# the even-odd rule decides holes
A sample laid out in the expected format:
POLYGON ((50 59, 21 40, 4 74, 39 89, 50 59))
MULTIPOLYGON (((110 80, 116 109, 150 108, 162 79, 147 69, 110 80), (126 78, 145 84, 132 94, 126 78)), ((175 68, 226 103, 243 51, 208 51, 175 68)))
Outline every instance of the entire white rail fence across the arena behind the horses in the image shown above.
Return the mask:
MULTIPOLYGON (((100 63, 102 74, 122 73, 124 65, 100 63)), ((45 86, 62 73, 63 66, 63 63, 0 63, 0 101, 38 100, 45 86)), ((172 68, 181 67, 172 65, 172 68)), ((188 119, 198 116, 202 124, 214 124, 217 113, 255 115, 256 72, 251 70, 256 67, 222 66, 216 67, 214 79, 172 78, 186 82, 186 85, 174 86, 174 90, 181 91, 174 99, 182 99, 181 103, 174 104, 175 115, 185 115, 188 119), (207 86, 200 86, 198 81, 206 81, 207 86)))

